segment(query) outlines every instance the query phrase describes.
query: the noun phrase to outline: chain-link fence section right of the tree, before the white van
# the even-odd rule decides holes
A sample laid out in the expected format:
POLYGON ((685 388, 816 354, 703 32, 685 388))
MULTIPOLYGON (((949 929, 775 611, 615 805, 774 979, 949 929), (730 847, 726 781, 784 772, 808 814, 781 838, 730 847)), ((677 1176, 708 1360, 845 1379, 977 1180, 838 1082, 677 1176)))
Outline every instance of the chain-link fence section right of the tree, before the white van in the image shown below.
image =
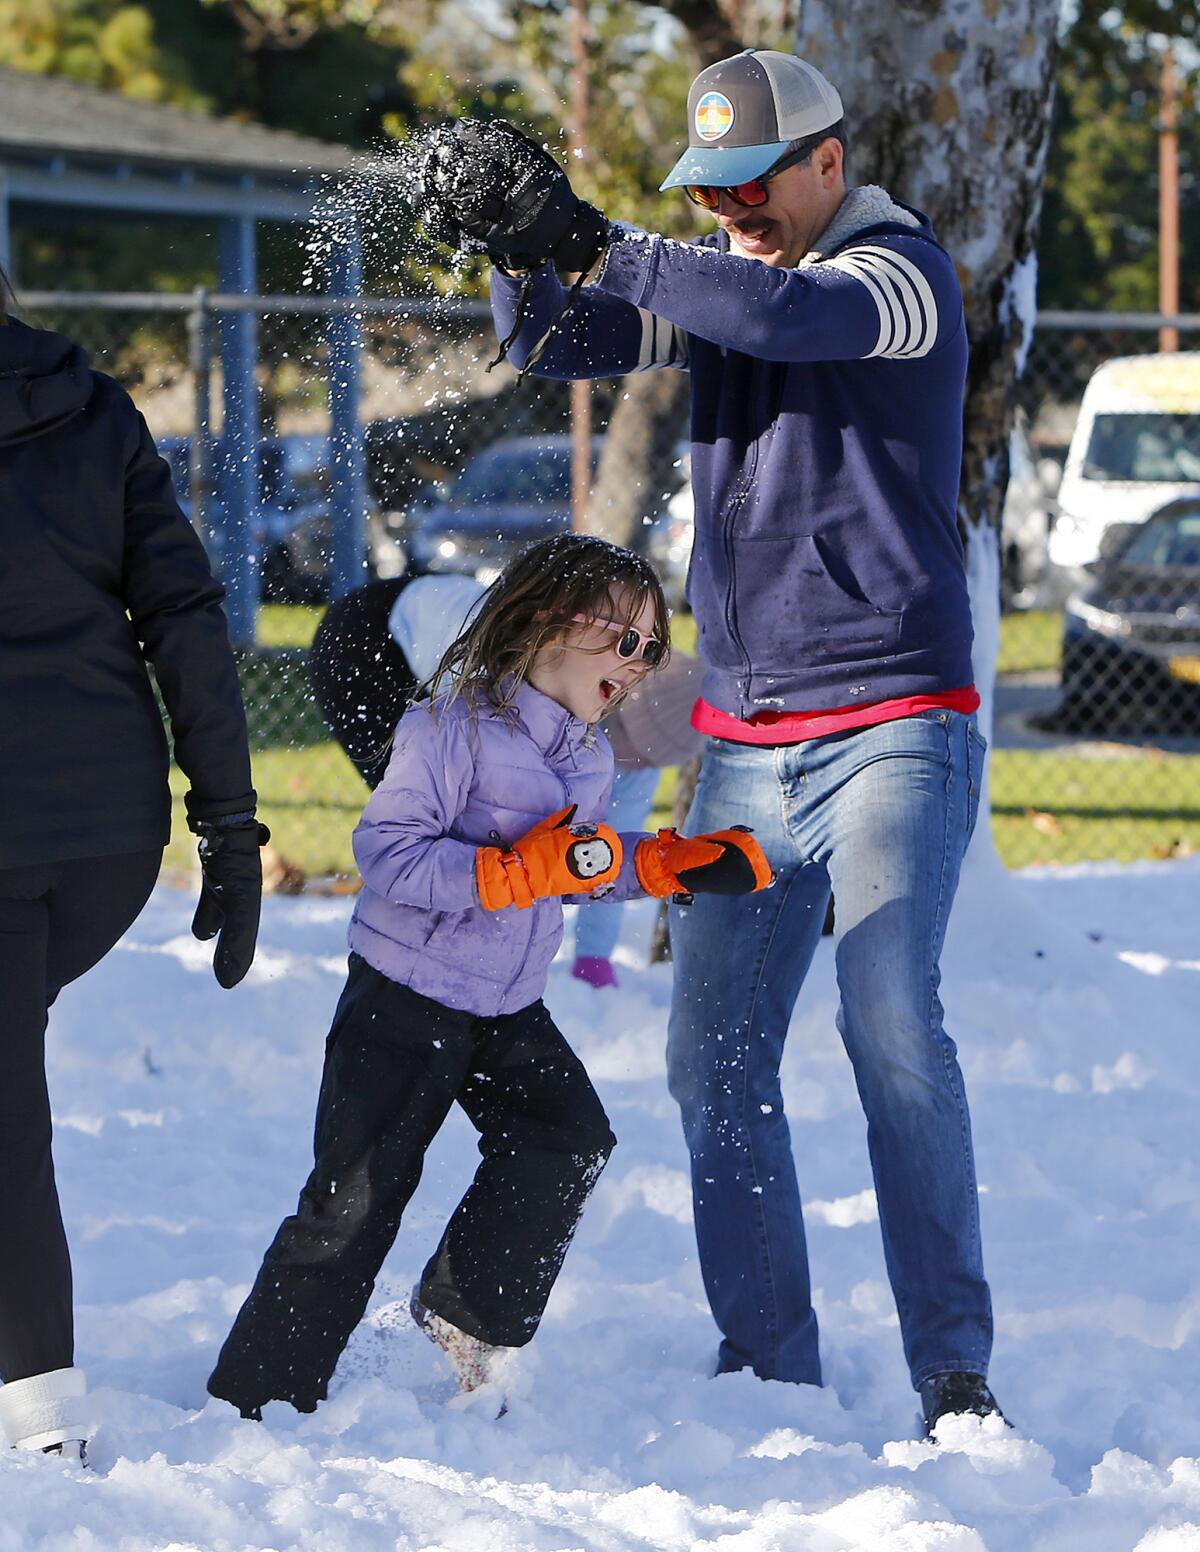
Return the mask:
POLYGON ((1039 318, 992 759, 1014 864, 1200 847, 1200 318, 1180 321, 1039 318))

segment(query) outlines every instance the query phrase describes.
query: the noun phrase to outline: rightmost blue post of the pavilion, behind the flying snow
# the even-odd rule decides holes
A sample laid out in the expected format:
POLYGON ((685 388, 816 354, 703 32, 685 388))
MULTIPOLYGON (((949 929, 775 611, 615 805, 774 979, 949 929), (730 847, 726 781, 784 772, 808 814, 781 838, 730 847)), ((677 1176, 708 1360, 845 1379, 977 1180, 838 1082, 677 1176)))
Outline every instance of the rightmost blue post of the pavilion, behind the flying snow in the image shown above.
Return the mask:
POLYGON ((329 247, 329 292, 345 306, 329 314, 329 511, 334 520, 331 594, 366 580, 366 459, 359 425, 362 362, 362 237, 352 214, 338 222, 329 247))

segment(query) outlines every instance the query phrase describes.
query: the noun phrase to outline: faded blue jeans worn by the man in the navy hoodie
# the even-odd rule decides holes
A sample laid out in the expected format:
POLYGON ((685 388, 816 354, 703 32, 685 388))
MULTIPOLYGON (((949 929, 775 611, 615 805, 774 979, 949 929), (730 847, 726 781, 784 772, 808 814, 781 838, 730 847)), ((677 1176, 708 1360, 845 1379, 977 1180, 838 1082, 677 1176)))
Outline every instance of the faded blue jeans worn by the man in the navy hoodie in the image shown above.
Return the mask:
POLYGON ((945 922, 986 743, 927 711, 781 748, 711 740, 688 833, 750 824, 772 889, 671 909, 671 1093, 692 1161, 717 1372, 821 1383, 804 1218, 782 1108, 787 1024, 832 885, 837 1027, 866 1113, 883 1252, 913 1384, 986 1375, 970 1117, 938 998, 945 922))

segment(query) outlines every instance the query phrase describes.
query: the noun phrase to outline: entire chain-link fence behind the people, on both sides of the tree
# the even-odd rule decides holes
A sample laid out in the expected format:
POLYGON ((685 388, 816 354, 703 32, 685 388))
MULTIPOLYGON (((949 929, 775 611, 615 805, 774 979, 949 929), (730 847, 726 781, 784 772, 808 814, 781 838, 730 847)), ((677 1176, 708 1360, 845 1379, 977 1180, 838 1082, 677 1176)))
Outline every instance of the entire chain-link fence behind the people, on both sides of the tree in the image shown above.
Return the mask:
MULTIPOLYGON (((219 500, 203 461, 222 456, 222 298, 25 301, 31 321, 79 340, 130 388, 219 562, 219 500), (197 514, 205 498, 213 506, 197 514)), ((324 321, 338 306, 352 309, 363 340, 359 421, 373 574, 402 571, 430 534, 436 545, 444 487, 481 452, 532 438, 534 456, 560 472, 570 425, 565 385, 518 382, 508 365, 487 371, 495 338, 483 304, 255 304, 262 607, 242 674, 262 810, 283 857, 310 877, 352 871, 349 833, 365 799, 306 678, 334 554, 329 498, 338 470, 324 321)), ((992 754, 992 823, 1011 864, 1200 847, 1200 355, 1188 354, 1200 351, 1200 318, 1180 320, 1174 360, 1158 354, 1158 323, 1042 315, 1020 385, 992 754), (1127 357, 1139 359, 1136 369, 1110 365, 1094 376, 1127 357)), ((615 391, 593 385, 598 436, 615 391)), ((677 514, 674 531, 685 521, 686 512, 677 514)), ((678 532, 672 543, 677 556, 678 532)), ((668 773, 663 804, 671 781, 668 773)))

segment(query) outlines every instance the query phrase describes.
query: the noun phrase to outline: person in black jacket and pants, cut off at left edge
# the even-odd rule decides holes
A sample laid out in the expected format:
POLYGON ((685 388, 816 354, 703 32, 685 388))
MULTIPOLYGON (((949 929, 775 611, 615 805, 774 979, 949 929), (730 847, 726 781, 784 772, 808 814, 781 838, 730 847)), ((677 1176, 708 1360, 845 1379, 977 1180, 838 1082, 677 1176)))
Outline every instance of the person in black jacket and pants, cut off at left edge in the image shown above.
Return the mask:
POLYGON ((71 1268, 51 1159, 47 1013, 146 903, 186 773, 216 978, 250 967, 262 875, 224 590, 146 422, 0 272, 0 1429, 84 1456, 71 1268))

